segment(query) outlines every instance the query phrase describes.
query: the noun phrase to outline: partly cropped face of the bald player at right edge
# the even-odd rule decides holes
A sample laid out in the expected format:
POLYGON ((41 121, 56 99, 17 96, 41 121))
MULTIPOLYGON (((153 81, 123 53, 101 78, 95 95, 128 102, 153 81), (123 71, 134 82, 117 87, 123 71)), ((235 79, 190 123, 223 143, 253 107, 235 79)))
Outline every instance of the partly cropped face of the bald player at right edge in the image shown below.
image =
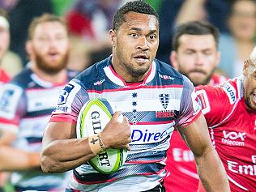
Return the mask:
POLYGON ((246 61, 243 74, 245 104, 249 109, 256 111, 256 66, 250 61, 246 61))

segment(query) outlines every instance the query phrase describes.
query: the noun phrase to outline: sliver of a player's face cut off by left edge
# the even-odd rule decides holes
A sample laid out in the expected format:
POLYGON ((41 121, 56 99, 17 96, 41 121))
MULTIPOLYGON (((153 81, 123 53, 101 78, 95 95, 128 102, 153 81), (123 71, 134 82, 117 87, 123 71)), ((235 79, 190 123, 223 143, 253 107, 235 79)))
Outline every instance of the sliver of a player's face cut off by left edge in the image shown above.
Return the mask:
POLYGON ((6 53, 10 45, 10 33, 8 28, 0 25, 0 58, 6 53))

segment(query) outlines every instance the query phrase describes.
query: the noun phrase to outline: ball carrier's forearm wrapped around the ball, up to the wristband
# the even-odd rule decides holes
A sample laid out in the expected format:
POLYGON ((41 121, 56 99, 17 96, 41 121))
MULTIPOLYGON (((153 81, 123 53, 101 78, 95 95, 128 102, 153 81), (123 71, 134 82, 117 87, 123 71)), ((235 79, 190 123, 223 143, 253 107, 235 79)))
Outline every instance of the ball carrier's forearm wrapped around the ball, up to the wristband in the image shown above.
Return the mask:
POLYGON ((55 140, 43 147, 41 168, 47 173, 62 173, 75 169, 94 156, 87 139, 55 140))

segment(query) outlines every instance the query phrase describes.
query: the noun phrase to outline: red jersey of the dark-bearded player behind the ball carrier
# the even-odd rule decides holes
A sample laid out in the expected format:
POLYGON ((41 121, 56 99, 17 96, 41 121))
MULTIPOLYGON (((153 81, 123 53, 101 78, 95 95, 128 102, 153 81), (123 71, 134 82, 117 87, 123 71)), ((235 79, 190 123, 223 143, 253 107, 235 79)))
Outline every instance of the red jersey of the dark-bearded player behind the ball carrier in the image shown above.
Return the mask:
MULTIPOLYGON (((224 76, 214 74, 210 85, 224 83, 224 76)), ((198 189, 199 177, 197 174, 194 155, 186 143, 181 139, 178 131, 173 131, 170 147, 167 151, 166 169, 169 171, 164 177, 164 186, 167 192, 195 192, 198 189)))

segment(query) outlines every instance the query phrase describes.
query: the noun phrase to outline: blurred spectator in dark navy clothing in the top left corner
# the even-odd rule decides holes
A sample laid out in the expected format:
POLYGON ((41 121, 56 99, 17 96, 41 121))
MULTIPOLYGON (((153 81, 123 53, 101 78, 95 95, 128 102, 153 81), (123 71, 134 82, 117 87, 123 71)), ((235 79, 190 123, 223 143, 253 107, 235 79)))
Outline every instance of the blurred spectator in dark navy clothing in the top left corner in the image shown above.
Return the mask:
POLYGON ((25 42, 32 19, 45 12, 52 13, 51 0, 1 0, 0 7, 6 9, 11 28, 11 51, 18 53, 23 65, 28 62, 25 42))

